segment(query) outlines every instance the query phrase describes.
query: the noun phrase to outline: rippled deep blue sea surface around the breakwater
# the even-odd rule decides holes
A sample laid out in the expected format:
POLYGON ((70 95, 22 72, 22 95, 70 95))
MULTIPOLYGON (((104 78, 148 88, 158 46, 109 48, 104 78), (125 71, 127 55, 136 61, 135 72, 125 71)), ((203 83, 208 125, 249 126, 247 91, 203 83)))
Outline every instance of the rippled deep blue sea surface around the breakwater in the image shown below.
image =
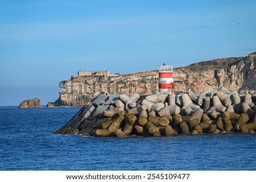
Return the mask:
POLYGON ((256 170, 255 134, 53 134, 79 109, 0 107, 0 170, 256 170))

